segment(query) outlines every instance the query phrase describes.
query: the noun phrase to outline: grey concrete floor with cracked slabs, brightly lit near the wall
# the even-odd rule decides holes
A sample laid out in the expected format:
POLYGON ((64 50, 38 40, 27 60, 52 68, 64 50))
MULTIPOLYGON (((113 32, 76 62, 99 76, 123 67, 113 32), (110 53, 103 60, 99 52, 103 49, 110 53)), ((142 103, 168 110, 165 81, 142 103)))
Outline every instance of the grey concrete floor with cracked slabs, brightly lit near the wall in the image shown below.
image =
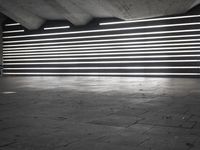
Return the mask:
POLYGON ((199 150, 200 79, 0 78, 0 150, 199 150))

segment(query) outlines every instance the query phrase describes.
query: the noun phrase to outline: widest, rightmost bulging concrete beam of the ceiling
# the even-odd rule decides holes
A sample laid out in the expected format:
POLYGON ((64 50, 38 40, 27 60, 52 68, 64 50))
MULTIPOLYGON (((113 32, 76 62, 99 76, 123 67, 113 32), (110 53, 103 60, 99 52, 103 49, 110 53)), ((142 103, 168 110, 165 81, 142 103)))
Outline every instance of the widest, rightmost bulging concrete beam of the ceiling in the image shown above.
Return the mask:
MULTIPOLYGON (((113 16, 134 20, 187 12, 199 0, 100 0, 113 16)), ((197 3, 198 4, 198 3, 197 3)))

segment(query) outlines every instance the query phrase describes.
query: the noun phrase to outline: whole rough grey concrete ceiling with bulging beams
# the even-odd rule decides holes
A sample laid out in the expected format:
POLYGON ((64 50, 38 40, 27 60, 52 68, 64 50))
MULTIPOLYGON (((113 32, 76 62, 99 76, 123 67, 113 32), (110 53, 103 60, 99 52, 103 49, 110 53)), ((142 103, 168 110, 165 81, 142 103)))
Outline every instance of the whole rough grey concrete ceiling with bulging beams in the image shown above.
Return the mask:
POLYGON ((0 12, 37 29, 46 20, 68 20, 74 25, 93 18, 134 20, 182 14, 198 4, 200 0, 0 0, 0 12))

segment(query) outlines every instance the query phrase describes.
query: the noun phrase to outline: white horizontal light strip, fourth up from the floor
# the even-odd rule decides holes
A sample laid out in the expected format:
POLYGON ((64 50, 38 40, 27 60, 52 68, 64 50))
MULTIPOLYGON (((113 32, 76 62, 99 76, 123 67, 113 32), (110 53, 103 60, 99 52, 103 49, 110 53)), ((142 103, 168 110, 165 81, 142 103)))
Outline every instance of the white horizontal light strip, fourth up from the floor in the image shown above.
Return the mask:
POLYGON ((69 57, 69 58, 35 58, 35 59, 4 59, 4 62, 13 61, 43 61, 43 60, 100 60, 100 59, 125 59, 125 58, 182 58, 200 57, 200 55, 153 55, 153 56, 109 56, 109 57, 69 57))

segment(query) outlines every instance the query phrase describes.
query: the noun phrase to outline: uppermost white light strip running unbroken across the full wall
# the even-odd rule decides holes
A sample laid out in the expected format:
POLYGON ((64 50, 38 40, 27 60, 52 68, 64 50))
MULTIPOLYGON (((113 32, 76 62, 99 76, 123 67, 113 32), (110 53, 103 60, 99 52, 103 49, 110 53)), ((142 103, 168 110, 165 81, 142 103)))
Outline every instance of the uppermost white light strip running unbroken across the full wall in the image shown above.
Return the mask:
POLYGON ((101 30, 85 30, 85 31, 71 31, 71 32, 59 32, 59 33, 44 33, 44 34, 29 34, 29 35, 16 35, 16 36, 3 36, 3 39, 10 38, 23 38, 23 37, 37 37, 37 36, 51 36, 51 35, 67 35, 67 34, 79 34, 79 33, 95 33, 106 31, 124 31, 124 30, 136 30, 136 29, 151 29, 151 28, 164 28, 164 27, 176 27, 176 26, 191 26, 200 25, 200 22, 192 23, 177 23, 177 24, 165 24, 154 26, 142 26, 142 27, 126 27, 126 28, 114 28, 114 29, 101 29, 101 30))

